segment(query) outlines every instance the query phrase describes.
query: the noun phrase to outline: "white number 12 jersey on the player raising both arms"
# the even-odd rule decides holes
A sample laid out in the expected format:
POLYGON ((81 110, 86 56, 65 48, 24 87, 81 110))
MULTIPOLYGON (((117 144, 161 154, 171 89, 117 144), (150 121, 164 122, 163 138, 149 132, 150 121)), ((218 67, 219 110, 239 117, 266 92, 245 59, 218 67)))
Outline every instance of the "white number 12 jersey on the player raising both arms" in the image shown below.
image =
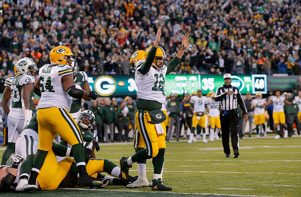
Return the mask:
POLYGON ((135 83, 137 85, 137 96, 140 99, 157 101, 164 104, 165 97, 165 76, 167 66, 164 70, 150 67, 146 74, 141 74, 138 70, 142 66, 144 60, 137 62, 135 71, 135 83))

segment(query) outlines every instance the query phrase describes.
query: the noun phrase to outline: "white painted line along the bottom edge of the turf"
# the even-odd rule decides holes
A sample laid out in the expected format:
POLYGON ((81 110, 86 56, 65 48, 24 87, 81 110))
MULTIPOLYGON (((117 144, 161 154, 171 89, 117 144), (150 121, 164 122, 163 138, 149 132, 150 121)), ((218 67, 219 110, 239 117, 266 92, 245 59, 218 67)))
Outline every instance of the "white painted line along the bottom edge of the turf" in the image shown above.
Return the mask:
MULTIPOLYGON (((95 189, 85 189, 85 188, 57 188, 64 190, 88 190, 95 191, 95 189)), ((139 193, 174 193, 174 194, 186 194, 186 195, 222 195, 222 196, 248 196, 248 197, 274 197, 267 195, 236 195, 236 194, 222 194, 222 193, 181 193, 181 192, 170 192, 170 191, 137 191, 137 190, 113 190, 113 189, 101 189, 103 192, 105 191, 121 191, 121 192, 139 192, 139 193)))

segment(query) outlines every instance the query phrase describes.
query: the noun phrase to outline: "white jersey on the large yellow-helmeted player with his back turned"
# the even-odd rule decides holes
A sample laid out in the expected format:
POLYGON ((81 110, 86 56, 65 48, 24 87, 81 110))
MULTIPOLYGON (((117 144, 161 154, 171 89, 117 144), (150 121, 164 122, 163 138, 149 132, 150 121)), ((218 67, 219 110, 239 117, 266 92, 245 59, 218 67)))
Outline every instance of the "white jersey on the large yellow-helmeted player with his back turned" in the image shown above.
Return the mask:
POLYGON ((73 74, 68 65, 45 64, 40 68, 41 99, 37 107, 58 107, 70 111, 72 97, 65 91, 61 79, 63 76, 73 74))

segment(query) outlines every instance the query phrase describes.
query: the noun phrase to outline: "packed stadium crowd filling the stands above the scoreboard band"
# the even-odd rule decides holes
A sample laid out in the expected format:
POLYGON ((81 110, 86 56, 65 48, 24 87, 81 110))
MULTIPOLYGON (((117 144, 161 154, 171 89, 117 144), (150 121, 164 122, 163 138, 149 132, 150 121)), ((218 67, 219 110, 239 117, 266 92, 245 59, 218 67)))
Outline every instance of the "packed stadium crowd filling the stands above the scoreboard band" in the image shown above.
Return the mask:
MULTIPOLYGON (((300 74, 300 1, 1 1, 0 69, 30 57, 38 68, 49 50, 69 47, 87 74, 127 74, 130 55, 152 45, 173 57, 192 36, 174 74, 300 74)), ((167 59, 169 61, 170 58, 167 59)))

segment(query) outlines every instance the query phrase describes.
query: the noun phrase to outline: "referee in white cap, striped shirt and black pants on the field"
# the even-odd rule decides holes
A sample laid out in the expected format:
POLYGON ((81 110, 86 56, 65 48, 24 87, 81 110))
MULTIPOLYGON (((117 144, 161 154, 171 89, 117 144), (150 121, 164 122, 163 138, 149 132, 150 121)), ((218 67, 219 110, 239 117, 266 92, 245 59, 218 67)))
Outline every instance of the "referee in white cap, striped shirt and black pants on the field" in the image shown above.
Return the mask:
POLYGON ((223 75, 224 85, 217 88, 214 100, 219 101, 221 136, 224 157, 230 157, 229 133, 234 150, 234 158, 239 155, 238 148, 238 104, 243 111, 244 120, 248 120, 247 109, 239 89, 231 86, 232 76, 227 73, 223 75))

